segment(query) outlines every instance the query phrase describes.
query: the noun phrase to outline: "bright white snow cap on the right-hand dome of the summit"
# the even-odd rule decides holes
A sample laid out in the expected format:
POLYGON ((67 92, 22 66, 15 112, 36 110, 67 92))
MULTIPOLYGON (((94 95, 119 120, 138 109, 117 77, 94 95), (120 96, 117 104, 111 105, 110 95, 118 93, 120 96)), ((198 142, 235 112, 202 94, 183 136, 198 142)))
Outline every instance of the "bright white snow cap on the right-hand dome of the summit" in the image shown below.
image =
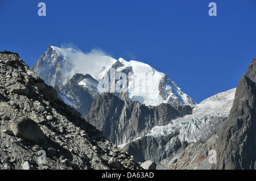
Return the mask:
POLYGON ((129 62, 119 58, 123 64, 117 72, 132 68, 132 76, 129 77, 127 92, 131 100, 139 100, 146 106, 158 106, 161 103, 172 105, 189 104, 195 102, 185 94, 177 85, 148 64, 131 60, 129 62))

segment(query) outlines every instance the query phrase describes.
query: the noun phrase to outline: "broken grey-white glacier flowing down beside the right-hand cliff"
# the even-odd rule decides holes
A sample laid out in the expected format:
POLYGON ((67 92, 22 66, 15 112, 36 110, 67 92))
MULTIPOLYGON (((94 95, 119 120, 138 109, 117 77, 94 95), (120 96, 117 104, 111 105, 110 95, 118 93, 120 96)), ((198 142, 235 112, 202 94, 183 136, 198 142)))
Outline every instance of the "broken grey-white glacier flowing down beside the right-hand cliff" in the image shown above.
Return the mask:
POLYGON ((155 126, 148 135, 161 136, 178 132, 181 141, 204 142, 220 132, 220 125, 233 106, 235 92, 236 88, 213 95, 197 104, 192 115, 177 117, 166 126, 155 126))

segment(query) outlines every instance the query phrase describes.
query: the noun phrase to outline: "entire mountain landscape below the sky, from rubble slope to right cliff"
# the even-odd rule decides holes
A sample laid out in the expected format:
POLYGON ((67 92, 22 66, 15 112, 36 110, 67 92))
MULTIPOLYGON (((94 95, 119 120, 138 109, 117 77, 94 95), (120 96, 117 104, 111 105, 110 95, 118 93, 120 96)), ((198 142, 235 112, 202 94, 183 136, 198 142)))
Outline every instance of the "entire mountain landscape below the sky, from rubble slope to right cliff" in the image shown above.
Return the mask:
POLYGON ((150 65, 97 50, 49 46, 32 70, 4 51, 0 68, 1 169, 255 169, 256 58, 199 104, 150 65))

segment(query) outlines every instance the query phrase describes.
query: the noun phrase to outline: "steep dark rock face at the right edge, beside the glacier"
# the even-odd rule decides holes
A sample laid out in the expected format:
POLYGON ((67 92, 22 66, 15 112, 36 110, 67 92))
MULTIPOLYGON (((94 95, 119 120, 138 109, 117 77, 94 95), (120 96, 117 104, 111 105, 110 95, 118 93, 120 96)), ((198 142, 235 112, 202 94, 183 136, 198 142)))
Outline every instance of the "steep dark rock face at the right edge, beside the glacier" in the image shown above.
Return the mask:
POLYGON ((216 145, 212 169, 255 169, 256 58, 238 82, 232 110, 216 145))

